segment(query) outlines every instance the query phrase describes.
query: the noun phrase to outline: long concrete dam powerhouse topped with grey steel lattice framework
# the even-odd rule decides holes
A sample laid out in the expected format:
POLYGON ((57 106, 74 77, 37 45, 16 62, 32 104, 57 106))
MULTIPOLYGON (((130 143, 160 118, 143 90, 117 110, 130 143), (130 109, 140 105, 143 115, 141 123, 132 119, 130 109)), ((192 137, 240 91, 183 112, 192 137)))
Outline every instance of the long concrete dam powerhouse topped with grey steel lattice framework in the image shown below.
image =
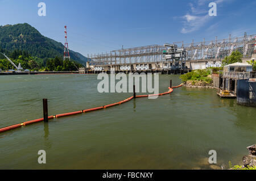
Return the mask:
MULTIPOLYGON (((179 62, 182 69, 204 69, 208 66, 220 66, 221 60, 234 50, 243 55, 243 61, 250 60, 256 53, 256 35, 244 33, 240 37, 229 35, 227 39, 215 37, 212 41, 184 44, 183 41, 164 45, 112 50, 109 53, 91 54, 89 66, 96 71, 108 70, 171 70, 173 60, 179 62), (170 47, 174 46, 174 50, 170 47), (181 53, 183 52, 183 53, 181 53), (172 56, 170 54, 173 54, 172 56)), ((173 47, 172 47, 173 48, 173 47)))

